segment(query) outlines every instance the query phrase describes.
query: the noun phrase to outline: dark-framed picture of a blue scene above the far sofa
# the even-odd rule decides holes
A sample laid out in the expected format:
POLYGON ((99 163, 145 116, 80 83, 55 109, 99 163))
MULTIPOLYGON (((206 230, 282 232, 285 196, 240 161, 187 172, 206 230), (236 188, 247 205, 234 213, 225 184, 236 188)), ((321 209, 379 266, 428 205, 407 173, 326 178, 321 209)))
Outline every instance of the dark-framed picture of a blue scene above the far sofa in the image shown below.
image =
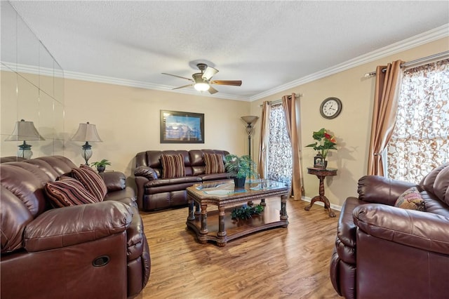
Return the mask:
POLYGON ((161 143, 204 143, 204 114, 161 110, 161 143))

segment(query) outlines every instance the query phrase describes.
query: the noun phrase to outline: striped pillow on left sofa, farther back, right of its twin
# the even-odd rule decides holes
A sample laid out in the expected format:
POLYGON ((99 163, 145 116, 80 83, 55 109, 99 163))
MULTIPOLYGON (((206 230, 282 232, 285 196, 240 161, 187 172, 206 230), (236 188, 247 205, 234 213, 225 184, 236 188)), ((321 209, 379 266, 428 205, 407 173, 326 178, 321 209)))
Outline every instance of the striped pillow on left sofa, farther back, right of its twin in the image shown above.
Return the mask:
POLYGON ((73 168, 72 175, 76 180, 79 180, 86 190, 91 192, 98 201, 103 201, 107 193, 105 181, 91 167, 81 165, 79 168, 73 168))

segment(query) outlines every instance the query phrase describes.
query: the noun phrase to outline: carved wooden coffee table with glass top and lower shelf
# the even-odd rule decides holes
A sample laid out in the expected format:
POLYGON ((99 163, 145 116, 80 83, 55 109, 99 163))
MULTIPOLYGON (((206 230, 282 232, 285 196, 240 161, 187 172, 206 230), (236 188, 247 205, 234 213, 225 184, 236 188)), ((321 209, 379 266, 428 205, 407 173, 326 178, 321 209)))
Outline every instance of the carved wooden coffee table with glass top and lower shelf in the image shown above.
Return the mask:
POLYGON ((288 187, 273 180, 248 180, 244 188, 235 188, 234 180, 195 184, 187 187, 187 228, 196 233, 199 243, 215 241, 222 247, 227 241, 247 234, 272 227, 287 227, 287 197, 288 187), (267 197, 276 196, 281 197, 279 204, 265 202, 267 197), (243 203, 253 205, 253 201, 257 200, 264 206, 261 215, 254 215, 248 220, 232 220, 233 208, 243 203), (217 210, 208 212, 208 205, 217 206, 217 210))

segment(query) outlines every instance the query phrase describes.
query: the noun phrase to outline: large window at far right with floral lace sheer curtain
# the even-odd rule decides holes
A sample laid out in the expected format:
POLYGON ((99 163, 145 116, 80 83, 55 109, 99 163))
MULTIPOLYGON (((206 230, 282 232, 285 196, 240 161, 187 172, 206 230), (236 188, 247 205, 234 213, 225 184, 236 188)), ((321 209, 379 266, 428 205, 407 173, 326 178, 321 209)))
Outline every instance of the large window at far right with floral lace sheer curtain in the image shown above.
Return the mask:
POLYGON ((420 182, 449 161, 449 59, 403 73, 398 114, 387 145, 389 178, 420 182))

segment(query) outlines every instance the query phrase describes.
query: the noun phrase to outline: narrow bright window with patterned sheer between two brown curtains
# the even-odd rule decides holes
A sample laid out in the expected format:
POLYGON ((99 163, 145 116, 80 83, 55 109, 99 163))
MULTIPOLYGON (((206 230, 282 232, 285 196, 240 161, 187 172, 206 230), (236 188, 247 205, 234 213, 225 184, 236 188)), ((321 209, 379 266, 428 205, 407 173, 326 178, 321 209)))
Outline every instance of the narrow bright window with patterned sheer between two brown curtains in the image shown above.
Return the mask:
POLYGON ((286 114, 282 105, 273 105, 269 114, 267 178, 292 182, 292 145, 288 137, 286 114))

